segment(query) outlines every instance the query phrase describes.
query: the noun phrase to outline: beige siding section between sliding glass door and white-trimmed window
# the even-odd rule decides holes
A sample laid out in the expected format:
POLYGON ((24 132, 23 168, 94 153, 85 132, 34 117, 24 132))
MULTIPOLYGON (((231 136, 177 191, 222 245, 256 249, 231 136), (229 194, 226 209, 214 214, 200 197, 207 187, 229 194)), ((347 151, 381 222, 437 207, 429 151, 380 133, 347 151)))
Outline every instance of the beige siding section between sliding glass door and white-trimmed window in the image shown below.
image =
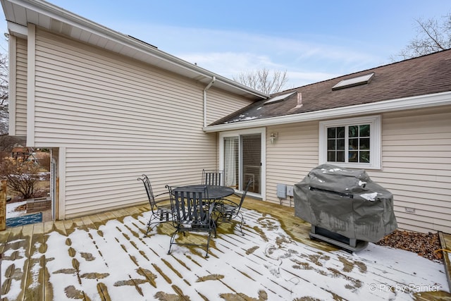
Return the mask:
MULTIPOLYGON (((296 123, 268 127, 266 132, 266 200, 280 204, 276 195, 277 184, 294 185, 318 166, 317 122, 296 123), (271 145, 271 133, 278 133, 278 140, 271 145)), ((294 206, 290 197, 282 204, 294 206)))

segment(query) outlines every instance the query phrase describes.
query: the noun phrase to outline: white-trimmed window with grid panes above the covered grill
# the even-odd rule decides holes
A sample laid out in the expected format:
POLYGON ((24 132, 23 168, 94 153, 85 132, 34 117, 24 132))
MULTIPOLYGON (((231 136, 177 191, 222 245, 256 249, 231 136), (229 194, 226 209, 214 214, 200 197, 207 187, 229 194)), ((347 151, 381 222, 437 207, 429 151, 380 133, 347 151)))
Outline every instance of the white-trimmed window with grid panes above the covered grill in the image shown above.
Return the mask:
POLYGON ((319 163, 381 168, 381 116, 319 123, 319 163))

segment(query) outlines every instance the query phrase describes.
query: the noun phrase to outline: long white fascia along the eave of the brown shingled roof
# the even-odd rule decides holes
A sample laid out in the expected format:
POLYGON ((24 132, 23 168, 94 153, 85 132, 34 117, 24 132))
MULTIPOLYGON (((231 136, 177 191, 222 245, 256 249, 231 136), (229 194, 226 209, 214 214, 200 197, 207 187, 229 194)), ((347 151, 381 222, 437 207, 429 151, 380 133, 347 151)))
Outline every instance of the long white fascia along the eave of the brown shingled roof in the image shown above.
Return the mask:
POLYGON ((342 108, 326 109, 307 113, 298 113, 288 116, 262 118, 253 121, 238 121, 230 124, 210 125, 204 128, 205 133, 222 132, 225 130, 238 130, 244 128, 256 128, 260 126, 281 125, 305 121, 320 121, 330 118, 349 117, 370 113, 383 113, 390 111, 402 111, 409 109, 421 109, 431 106, 451 105, 451 92, 441 92, 415 97, 391 99, 371 104, 357 104, 355 106, 343 106, 342 108))

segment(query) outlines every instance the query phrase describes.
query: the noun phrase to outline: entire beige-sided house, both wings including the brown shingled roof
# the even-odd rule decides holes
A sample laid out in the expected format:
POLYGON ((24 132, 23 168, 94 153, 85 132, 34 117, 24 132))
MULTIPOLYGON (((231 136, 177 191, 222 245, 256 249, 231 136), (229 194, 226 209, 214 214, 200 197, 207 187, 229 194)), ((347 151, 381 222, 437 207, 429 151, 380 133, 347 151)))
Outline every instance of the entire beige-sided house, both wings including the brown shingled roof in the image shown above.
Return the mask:
POLYGON ((54 219, 145 202, 142 173, 163 192, 202 168, 294 206, 290 187, 330 163, 393 192, 400 228, 451 232, 451 51, 268 96, 48 2, 0 2, 10 135, 51 149, 54 219))

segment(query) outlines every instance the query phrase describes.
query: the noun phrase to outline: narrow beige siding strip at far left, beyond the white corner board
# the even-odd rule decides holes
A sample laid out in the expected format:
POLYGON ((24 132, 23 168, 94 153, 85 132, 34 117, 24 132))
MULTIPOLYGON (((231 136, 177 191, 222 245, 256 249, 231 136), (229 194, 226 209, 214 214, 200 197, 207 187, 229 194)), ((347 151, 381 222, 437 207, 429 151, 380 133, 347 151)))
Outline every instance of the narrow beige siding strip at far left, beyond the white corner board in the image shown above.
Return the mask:
POLYGON ((16 39, 16 135, 27 135, 27 40, 16 39))

